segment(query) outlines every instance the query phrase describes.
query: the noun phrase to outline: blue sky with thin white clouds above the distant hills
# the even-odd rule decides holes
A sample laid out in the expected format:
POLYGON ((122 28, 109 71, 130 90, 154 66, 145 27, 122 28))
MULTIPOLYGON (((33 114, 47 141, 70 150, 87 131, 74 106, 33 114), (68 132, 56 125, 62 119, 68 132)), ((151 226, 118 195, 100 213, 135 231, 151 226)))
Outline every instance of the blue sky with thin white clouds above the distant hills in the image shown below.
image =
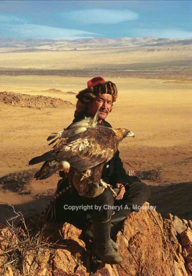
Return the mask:
POLYGON ((0 37, 75 40, 98 36, 190 37, 192 0, 0 1, 0 37))

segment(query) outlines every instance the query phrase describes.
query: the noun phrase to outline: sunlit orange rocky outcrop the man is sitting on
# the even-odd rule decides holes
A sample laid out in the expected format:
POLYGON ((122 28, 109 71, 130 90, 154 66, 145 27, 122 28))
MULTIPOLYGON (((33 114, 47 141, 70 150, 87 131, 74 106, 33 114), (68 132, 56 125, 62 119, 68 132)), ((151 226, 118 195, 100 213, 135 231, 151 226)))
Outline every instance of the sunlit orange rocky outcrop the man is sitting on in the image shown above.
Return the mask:
MULTIPOLYGON (((147 205, 145 205, 147 206, 147 205)), ((65 223, 60 238, 52 233, 54 248, 24 250, 17 275, 50 276, 189 276, 192 275, 192 222, 168 214, 163 221, 155 210, 132 213, 117 234, 120 265, 94 263, 90 248, 79 238, 81 230, 65 223)), ((50 235, 49 232, 49 235, 50 235)), ((58 231, 57 231, 58 232, 58 231)), ((1 253, 8 250, 5 236, 12 233, 1 229, 1 253)), ((48 233, 46 234, 48 236, 48 233)), ((8 263, 2 254, 1 263, 8 263)), ((1 275, 16 275, 14 262, 2 267, 1 275)))

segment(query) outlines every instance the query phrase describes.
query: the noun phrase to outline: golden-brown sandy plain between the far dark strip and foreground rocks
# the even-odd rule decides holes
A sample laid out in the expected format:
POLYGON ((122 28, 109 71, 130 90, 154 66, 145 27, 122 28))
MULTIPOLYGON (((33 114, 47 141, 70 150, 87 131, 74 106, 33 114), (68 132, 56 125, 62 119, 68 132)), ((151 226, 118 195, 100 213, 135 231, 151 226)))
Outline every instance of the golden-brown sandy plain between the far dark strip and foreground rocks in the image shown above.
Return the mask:
MULTIPOLYGON (((25 214, 36 213, 51 199, 59 176, 35 181, 33 175, 40 165, 31 167, 28 161, 50 148, 46 141, 50 133, 70 124, 76 99, 66 92, 77 93, 88 79, 1 76, 0 91, 60 97, 73 104, 36 109, 0 103, 1 221, 12 215, 8 204, 25 214)), ((142 170, 143 181, 151 187, 149 202, 162 215, 171 212, 192 219, 191 84, 123 77, 111 81, 117 84, 119 98, 108 121, 136 133, 134 140, 120 145, 126 170, 142 170)))

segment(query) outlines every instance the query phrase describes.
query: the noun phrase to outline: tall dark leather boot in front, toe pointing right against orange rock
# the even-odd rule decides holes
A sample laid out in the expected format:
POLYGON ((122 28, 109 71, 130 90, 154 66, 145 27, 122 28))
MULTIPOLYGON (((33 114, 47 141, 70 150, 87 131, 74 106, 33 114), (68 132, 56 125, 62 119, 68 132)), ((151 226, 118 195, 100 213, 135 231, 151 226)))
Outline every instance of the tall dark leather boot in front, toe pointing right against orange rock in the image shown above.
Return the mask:
POLYGON ((94 254, 106 264, 119 264, 121 256, 110 243, 111 220, 93 222, 94 254))

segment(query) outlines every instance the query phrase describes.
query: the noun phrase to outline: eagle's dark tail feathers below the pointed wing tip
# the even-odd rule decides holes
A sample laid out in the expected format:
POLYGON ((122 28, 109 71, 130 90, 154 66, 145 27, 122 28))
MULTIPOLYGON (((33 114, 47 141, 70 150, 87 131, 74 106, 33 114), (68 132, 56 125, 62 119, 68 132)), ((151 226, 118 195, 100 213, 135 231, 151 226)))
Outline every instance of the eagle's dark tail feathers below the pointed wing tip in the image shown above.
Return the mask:
POLYGON ((35 173, 34 178, 36 180, 47 179, 57 170, 61 169, 61 167, 61 162, 58 162, 56 160, 46 161, 41 169, 35 173))

